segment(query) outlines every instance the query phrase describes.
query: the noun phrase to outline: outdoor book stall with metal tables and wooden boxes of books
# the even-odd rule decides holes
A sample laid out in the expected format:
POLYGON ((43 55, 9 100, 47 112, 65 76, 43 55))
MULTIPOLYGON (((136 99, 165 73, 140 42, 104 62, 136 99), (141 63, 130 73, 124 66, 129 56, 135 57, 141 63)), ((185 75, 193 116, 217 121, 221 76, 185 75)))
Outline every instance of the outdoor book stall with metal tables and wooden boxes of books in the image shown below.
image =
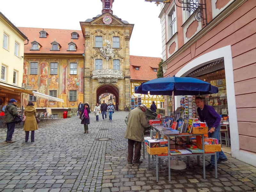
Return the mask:
POLYGON ((197 156, 197 164, 200 164, 200 156, 203 156, 203 178, 205 179, 205 155, 215 154, 215 178, 217 178, 216 152, 221 150, 217 139, 207 138, 208 127, 206 123, 197 118, 187 118, 185 108, 179 107, 175 114, 149 120, 151 125, 150 137, 144 138, 148 152, 148 168, 150 168, 150 156, 156 158, 156 181, 158 182, 158 165, 160 158, 168 158, 168 176, 171 180, 171 169, 182 170, 189 166, 189 156, 197 156), (205 137, 206 135, 206 137, 205 137), (204 145, 203 145, 204 143, 204 145), (179 156, 187 156, 187 164, 179 161, 179 156), (170 160, 175 157, 175 160, 170 160))

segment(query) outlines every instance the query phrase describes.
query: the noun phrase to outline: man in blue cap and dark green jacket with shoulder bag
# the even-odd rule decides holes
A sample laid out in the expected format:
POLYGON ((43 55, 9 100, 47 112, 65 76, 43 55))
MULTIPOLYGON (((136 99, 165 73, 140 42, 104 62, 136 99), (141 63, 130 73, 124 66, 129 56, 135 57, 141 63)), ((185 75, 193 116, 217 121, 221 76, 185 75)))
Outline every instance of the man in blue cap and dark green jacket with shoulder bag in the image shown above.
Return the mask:
POLYGON ((18 116, 19 113, 16 108, 16 100, 10 99, 10 102, 6 106, 5 112, 5 122, 7 125, 7 135, 6 135, 6 143, 14 143, 16 141, 12 140, 12 134, 14 133, 15 123, 14 123, 14 116, 18 116))

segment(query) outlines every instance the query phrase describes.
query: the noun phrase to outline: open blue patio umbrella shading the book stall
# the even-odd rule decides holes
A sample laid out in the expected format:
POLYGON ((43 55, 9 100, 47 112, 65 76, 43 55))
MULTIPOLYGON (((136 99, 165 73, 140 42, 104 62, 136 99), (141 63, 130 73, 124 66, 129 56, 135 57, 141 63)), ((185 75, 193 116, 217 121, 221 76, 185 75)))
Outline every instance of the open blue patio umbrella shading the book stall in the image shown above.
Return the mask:
POLYGON ((218 88, 193 77, 156 78, 135 87, 135 93, 150 95, 205 95, 217 93, 218 88))

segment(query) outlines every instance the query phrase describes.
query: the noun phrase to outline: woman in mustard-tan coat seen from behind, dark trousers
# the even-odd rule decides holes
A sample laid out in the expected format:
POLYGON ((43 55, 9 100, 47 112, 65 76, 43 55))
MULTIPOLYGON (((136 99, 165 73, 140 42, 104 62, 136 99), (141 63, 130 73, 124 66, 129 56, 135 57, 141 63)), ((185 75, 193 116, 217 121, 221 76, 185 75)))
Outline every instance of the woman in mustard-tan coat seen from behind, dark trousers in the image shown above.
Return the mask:
POLYGON ((25 142, 28 142, 29 131, 31 131, 31 142, 35 141, 35 130, 38 129, 36 123, 36 108, 34 107, 34 103, 29 101, 28 105, 25 107, 24 115, 26 116, 25 124, 23 130, 26 133, 25 142))

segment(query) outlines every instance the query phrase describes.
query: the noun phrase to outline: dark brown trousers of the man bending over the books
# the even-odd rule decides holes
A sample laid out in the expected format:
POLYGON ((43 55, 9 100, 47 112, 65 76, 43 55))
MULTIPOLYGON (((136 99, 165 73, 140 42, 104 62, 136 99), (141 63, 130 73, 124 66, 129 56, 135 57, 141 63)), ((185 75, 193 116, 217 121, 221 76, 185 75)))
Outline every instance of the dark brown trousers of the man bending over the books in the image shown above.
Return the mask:
POLYGON ((139 162, 140 161, 140 149, 141 149, 141 142, 128 139, 128 162, 139 162), (134 159, 133 159, 133 146, 134 146, 134 159))

